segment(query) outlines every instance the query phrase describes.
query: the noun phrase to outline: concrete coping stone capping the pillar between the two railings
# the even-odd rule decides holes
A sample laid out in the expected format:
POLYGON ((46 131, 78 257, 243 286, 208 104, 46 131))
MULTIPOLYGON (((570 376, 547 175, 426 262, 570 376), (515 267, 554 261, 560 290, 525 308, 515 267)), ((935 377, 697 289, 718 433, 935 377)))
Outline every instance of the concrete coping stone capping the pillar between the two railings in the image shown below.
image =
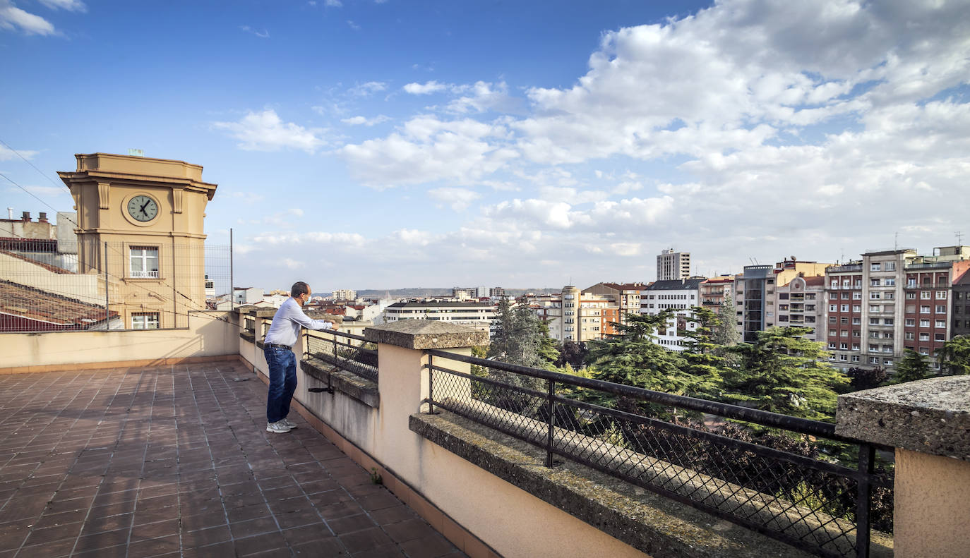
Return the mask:
POLYGON ((432 320, 402 320, 375 325, 364 329, 364 337, 373 343, 404 349, 454 349, 488 344, 487 331, 432 320))

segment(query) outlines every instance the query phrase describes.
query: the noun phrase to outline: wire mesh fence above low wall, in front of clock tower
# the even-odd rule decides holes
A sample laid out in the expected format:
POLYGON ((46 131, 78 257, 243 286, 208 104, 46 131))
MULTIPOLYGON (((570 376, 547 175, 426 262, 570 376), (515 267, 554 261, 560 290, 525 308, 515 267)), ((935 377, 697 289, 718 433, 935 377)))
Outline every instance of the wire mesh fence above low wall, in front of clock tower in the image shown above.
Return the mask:
POLYGON ((230 258, 171 238, 0 239, 0 331, 187 327, 229 309, 230 258))

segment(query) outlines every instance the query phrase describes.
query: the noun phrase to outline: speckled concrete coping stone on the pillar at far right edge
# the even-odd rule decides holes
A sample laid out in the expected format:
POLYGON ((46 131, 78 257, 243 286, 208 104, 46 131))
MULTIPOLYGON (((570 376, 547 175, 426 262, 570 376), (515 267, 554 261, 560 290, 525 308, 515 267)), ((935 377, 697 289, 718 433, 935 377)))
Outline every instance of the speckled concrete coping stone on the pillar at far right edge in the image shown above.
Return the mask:
POLYGON ((943 376, 839 395, 835 433, 970 461, 970 376, 943 376))

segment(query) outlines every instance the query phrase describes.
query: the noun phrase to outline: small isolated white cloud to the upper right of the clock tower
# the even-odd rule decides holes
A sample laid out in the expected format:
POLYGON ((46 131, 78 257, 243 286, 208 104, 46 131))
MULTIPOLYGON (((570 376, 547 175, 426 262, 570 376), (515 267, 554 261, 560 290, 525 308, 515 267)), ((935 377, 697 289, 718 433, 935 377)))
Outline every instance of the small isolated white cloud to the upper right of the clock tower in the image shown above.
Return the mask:
POLYGON ((313 153, 327 143, 326 130, 283 122, 274 109, 249 111, 239 122, 213 122, 212 127, 227 131, 245 151, 300 149, 313 153))

